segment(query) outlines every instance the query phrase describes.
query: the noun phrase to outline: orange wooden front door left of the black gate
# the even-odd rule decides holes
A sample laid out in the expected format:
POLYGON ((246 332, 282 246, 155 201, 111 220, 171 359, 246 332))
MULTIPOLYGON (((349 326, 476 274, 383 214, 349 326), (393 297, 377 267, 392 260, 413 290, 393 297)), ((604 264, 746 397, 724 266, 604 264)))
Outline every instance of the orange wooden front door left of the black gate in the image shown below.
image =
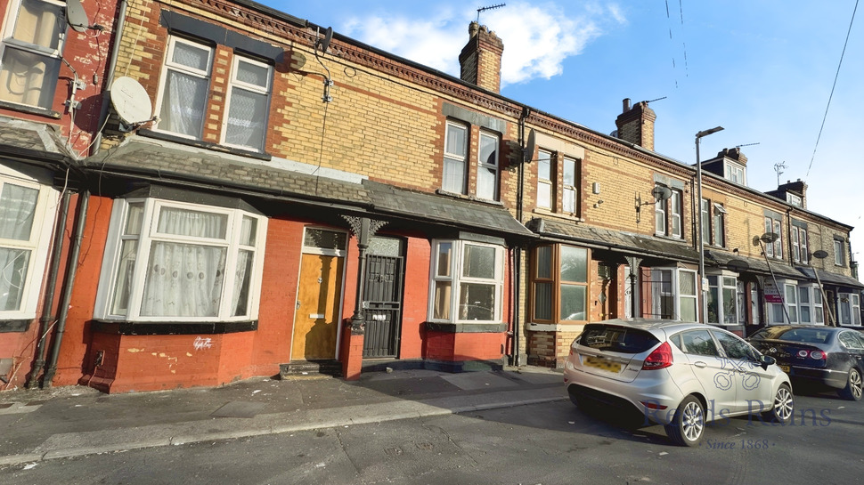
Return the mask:
POLYGON ((342 265, 340 256, 303 255, 291 360, 336 359, 342 265))

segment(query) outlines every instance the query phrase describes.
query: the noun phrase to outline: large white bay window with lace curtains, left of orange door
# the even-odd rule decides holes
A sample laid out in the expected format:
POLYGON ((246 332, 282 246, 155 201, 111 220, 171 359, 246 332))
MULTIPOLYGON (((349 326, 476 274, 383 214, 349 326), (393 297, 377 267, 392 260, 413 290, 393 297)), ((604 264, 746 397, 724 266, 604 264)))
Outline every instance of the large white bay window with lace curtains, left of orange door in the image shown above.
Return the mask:
POLYGON ((266 225, 265 217, 240 209, 118 199, 97 318, 256 319, 266 225))

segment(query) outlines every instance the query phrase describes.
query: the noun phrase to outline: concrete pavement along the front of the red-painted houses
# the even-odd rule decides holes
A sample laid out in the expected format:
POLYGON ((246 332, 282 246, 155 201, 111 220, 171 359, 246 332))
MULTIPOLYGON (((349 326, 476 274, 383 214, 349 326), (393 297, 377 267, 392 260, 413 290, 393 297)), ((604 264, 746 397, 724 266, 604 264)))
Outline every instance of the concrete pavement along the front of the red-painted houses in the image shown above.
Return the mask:
POLYGON ((216 388, 0 392, 0 465, 566 400, 560 372, 255 377, 216 388))

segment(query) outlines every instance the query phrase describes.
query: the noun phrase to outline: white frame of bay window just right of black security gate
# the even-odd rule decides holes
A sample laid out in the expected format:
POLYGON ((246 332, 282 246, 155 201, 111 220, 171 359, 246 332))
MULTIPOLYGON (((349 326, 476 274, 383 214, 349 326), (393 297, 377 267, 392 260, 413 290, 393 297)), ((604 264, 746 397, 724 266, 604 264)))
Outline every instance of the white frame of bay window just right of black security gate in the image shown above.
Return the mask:
POLYGON ((428 300, 428 321, 446 322, 446 323, 501 323, 501 315, 503 314, 503 289, 504 289, 504 263, 506 261, 506 248, 495 244, 475 242, 465 239, 433 239, 432 241, 432 264, 430 265, 429 280, 429 300, 428 300), (449 245, 447 257, 449 261, 442 261, 442 249, 449 245), (469 277, 463 274, 465 271, 465 255, 469 247, 492 248, 494 250, 495 261, 493 268, 493 278, 476 278, 469 277), (436 308, 438 299, 436 291, 439 287, 446 287, 449 284, 449 295, 442 301, 445 304, 436 308), (482 286, 493 287, 493 318, 492 319, 461 319, 460 315, 460 297, 461 287, 463 285, 477 284, 482 286), (440 285, 440 286, 439 286, 440 285), (440 316, 440 315, 444 316, 440 316))

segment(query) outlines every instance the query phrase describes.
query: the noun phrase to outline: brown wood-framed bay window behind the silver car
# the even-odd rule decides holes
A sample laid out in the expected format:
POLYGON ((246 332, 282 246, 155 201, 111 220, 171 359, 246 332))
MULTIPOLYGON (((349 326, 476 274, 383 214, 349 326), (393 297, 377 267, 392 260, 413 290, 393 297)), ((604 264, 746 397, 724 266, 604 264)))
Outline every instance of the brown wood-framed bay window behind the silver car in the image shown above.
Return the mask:
POLYGON ((588 319, 588 249, 566 245, 534 248, 531 273, 534 321, 588 319))

